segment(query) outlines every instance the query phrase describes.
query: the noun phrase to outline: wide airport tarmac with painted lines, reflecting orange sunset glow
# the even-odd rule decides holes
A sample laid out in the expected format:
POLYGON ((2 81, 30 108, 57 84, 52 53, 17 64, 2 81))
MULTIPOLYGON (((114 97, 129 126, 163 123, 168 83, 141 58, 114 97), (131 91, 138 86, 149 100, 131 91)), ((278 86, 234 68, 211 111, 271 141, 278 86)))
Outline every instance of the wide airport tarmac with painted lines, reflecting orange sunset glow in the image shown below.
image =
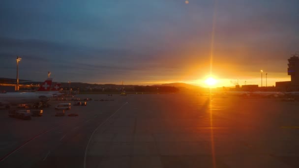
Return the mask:
POLYGON ((299 102, 197 94, 77 97, 93 100, 66 111, 76 117, 55 117, 61 101, 50 101, 32 120, 1 110, 0 167, 299 167, 299 102))

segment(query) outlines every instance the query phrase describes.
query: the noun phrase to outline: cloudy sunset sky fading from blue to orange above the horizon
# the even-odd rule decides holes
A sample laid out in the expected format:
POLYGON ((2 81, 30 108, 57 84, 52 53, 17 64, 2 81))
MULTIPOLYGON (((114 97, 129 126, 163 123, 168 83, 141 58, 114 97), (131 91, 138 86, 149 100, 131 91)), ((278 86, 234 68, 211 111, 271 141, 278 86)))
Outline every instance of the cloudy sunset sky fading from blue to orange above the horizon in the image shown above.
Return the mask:
POLYGON ((0 77, 275 85, 299 51, 298 0, 1 0, 0 77))

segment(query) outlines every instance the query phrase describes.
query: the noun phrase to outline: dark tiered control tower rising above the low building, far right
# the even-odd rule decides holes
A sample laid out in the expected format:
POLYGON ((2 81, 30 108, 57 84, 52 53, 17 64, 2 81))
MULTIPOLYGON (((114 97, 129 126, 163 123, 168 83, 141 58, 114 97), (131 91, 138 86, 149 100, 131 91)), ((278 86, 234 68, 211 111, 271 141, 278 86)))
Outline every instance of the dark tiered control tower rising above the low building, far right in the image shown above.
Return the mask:
POLYGON ((299 86, 299 54, 292 55, 288 61, 288 75, 291 75, 291 85, 299 86))

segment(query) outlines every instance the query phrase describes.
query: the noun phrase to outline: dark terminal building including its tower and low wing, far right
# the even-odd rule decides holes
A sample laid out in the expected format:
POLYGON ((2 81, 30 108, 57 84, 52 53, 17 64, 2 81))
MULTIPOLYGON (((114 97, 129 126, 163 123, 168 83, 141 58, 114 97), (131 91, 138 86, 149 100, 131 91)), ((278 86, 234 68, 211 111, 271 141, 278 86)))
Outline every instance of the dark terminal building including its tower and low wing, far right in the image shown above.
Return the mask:
POLYGON ((276 88, 280 91, 299 91, 299 54, 292 55, 288 61, 288 75, 291 75, 291 81, 276 82, 276 88))

